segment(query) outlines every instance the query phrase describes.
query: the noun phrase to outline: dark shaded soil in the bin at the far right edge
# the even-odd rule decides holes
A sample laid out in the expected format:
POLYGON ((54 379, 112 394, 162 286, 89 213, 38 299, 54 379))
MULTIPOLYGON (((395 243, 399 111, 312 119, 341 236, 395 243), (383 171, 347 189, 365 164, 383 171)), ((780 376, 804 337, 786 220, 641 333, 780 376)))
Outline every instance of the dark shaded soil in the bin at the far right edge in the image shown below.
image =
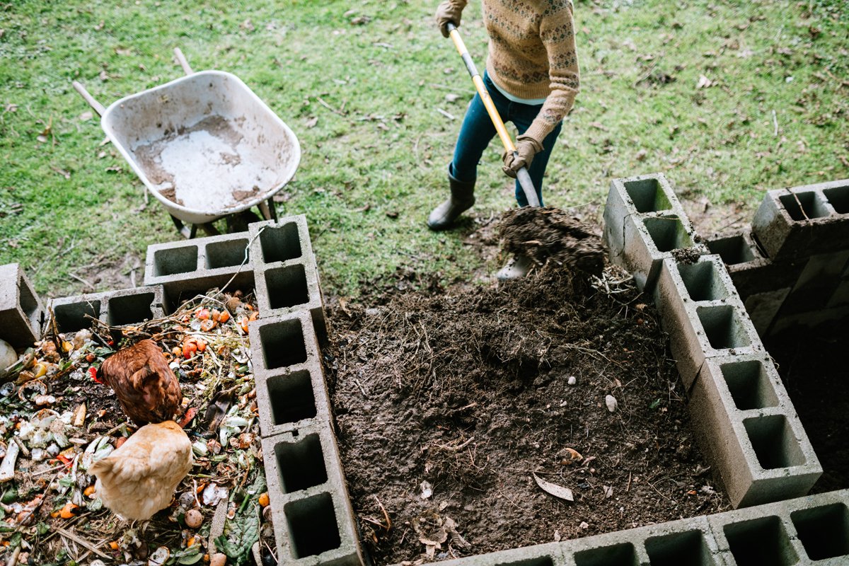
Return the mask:
POLYGON ((768 339, 767 350, 796 408, 823 475, 811 493, 849 488, 849 378, 846 322, 816 331, 794 330, 768 339))

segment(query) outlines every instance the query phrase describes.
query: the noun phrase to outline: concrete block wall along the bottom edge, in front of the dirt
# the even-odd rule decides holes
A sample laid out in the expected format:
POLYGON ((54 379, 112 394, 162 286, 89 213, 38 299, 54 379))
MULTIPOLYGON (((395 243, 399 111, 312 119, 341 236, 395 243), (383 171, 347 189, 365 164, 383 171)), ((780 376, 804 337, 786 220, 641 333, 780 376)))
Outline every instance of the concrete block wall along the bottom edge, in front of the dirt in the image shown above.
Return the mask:
POLYGON ((849 490, 441 562, 444 566, 849 563, 849 490))

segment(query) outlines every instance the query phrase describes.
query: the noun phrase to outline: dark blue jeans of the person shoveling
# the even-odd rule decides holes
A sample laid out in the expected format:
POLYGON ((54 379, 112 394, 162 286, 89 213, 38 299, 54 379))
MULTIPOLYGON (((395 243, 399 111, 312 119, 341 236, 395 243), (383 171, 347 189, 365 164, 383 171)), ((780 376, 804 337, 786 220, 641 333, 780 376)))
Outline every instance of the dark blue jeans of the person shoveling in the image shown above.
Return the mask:
MULTIPOLYGON (((537 117, 543 105, 513 102, 498 91, 486 71, 483 74, 483 82, 486 90, 489 91, 492 102, 498 109, 498 114, 501 115, 501 119, 505 122, 513 122, 519 131, 519 135, 525 133, 531 127, 531 122, 537 117)), ((534 156, 531 167, 528 169, 533 186, 537 189, 540 205, 543 205, 543 173, 545 173, 548 158, 551 156, 551 149, 554 148, 561 126, 563 126, 563 122, 559 122, 554 130, 545 137, 543 151, 534 156)), ((490 120, 486 113, 486 107, 481 101, 481 95, 475 93, 475 98, 472 98, 463 119, 463 126, 460 126, 460 135, 457 139, 457 145, 454 147, 454 158, 451 165, 448 165, 448 172, 451 173, 452 177, 462 182, 475 182, 477 165, 481 161, 481 155, 496 133, 495 126, 492 126, 492 120, 490 120)), ((519 182, 516 182, 516 202, 520 206, 527 206, 528 204, 519 182)))

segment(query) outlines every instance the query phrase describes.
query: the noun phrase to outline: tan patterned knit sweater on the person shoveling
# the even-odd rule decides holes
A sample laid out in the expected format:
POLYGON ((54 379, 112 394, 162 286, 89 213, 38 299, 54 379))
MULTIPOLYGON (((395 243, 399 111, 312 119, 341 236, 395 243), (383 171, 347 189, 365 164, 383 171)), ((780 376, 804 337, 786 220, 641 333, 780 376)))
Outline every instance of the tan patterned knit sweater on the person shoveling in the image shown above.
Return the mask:
MULTIPOLYGON (((465 8, 467 0, 448 0, 465 8)), ((569 113, 580 80, 570 0, 481 0, 486 70, 517 98, 546 98, 526 135, 542 141, 569 113)))

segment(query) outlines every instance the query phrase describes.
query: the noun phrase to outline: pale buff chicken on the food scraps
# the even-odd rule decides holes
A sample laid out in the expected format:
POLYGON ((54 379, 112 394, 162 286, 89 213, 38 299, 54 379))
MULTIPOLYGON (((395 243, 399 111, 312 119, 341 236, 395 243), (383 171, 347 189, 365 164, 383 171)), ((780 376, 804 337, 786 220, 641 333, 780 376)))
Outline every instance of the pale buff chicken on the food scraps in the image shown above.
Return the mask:
POLYGON ((95 492, 121 518, 146 520, 168 507, 192 468, 192 443, 173 421, 147 424, 88 469, 95 492))

